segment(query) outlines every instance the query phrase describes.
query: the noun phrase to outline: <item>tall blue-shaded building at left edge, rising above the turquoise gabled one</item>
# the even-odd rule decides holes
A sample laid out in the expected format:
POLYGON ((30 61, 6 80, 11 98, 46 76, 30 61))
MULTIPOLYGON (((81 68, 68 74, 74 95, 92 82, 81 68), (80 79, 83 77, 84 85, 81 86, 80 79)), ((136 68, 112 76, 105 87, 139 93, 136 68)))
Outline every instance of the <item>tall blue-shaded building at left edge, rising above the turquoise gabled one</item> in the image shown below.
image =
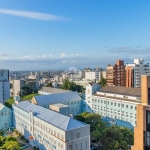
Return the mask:
POLYGON ((0 103, 10 98, 9 70, 0 69, 0 103))

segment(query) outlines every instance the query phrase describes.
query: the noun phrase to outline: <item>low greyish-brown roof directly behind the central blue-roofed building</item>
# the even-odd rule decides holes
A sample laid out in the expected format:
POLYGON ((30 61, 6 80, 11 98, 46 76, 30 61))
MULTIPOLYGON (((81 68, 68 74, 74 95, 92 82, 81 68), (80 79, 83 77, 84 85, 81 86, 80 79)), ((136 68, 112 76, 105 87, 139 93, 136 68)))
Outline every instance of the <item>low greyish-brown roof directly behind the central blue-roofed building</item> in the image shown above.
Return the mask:
POLYGON ((43 87, 41 90, 39 90, 41 92, 45 92, 45 93, 66 93, 66 92, 70 92, 70 90, 63 90, 63 89, 57 89, 57 88, 51 88, 51 87, 43 87))

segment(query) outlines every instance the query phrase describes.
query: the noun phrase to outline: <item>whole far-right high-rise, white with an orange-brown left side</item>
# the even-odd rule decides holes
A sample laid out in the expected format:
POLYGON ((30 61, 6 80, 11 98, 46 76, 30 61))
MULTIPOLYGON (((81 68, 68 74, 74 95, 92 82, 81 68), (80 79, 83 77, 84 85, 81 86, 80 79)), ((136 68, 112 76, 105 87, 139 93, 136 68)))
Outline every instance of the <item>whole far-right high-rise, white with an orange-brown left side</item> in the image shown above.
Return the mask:
POLYGON ((126 65, 126 87, 141 87, 141 75, 150 75, 149 64, 137 58, 134 64, 126 65))

